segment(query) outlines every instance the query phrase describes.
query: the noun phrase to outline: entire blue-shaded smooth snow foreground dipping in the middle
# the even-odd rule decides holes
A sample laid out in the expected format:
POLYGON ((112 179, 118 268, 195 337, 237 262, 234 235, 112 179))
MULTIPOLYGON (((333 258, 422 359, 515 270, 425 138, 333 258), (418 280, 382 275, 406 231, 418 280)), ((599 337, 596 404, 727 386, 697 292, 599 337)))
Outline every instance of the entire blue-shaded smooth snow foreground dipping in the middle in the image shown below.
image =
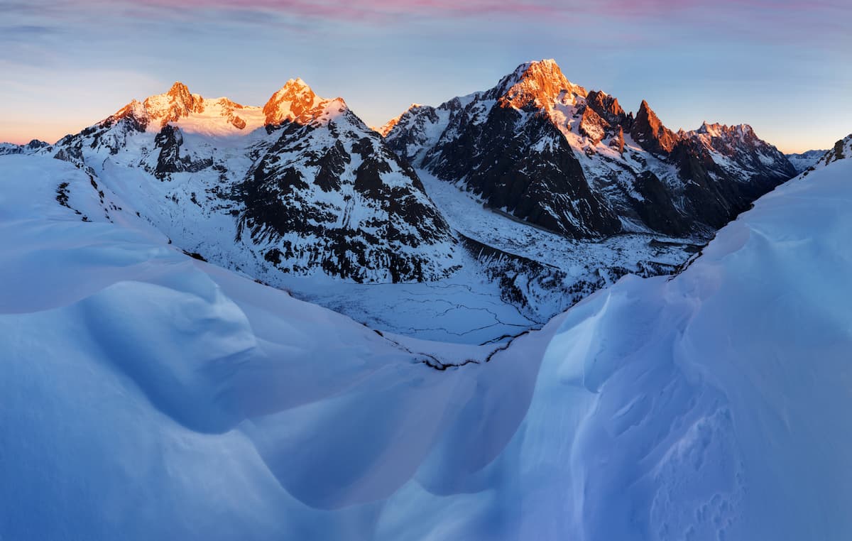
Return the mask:
POLYGON ((850 538, 850 180, 435 371, 0 158, 0 538, 850 538))

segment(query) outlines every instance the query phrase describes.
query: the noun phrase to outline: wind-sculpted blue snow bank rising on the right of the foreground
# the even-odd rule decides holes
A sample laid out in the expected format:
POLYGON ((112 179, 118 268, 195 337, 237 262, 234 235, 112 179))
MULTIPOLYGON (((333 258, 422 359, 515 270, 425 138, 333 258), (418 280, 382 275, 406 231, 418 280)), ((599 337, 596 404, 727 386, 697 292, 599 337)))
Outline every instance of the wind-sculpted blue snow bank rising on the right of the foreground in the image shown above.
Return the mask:
POLYGON ((592 397, 585 538, 849 536, 850 179, 844 160, 792 181, 676 278, 568 313, 544 365, 592 397))

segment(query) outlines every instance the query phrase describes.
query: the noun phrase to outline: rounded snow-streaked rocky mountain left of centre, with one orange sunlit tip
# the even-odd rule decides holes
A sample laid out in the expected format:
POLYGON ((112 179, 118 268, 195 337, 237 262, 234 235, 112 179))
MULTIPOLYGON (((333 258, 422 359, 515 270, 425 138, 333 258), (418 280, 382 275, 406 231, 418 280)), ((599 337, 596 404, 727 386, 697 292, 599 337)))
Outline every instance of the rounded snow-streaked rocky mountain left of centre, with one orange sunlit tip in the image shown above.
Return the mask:
POLYGON ((320 267, 359 282, 452 272, 454 239, 417 174, 343 100, 296 81, 263 111, 277 138, 235 191, 238 239, 285 272, 320 267))

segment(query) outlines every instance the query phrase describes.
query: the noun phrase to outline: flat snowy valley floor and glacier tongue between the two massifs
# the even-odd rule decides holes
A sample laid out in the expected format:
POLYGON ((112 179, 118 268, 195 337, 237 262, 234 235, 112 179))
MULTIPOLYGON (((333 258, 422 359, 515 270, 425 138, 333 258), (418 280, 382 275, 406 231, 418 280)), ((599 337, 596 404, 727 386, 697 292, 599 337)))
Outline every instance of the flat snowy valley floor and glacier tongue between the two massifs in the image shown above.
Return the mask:
POLYGON ((485 344, 506 342, 540 328, 624 273, 670 273, 700 248, 700 239, 648 233, 600 241, 568 239, 487 209, 471 194, 426 171, 418 170, 417 175, 453 230, 468 239, 469 252, 458 256, 463 261, 461 270, 417 284, 354 284, 323 275, 281 276, 276 283, 298 298, 375 329, 427 340, 485 344), (526 306, 507 300, 498 284, 499 273, 513 272, 495 261, 507 255, 543 269, 544 284, 524 284, 526 306), (494 269, 492 273, 488 268, 494 269))

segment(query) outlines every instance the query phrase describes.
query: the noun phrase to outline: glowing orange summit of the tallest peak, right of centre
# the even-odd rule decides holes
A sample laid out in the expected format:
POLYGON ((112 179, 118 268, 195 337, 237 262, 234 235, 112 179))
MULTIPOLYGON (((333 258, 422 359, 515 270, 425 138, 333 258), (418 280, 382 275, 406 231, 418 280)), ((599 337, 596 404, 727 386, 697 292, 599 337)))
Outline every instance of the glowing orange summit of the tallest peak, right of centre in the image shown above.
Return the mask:
POLYGON ((571 83, 562 73, 556 60, 537 60, 521 64, 504 77, 494 96, 500 106, 521 109, 535 106, 550 108, 562 93, 586 96, 586 90, 571 83))

